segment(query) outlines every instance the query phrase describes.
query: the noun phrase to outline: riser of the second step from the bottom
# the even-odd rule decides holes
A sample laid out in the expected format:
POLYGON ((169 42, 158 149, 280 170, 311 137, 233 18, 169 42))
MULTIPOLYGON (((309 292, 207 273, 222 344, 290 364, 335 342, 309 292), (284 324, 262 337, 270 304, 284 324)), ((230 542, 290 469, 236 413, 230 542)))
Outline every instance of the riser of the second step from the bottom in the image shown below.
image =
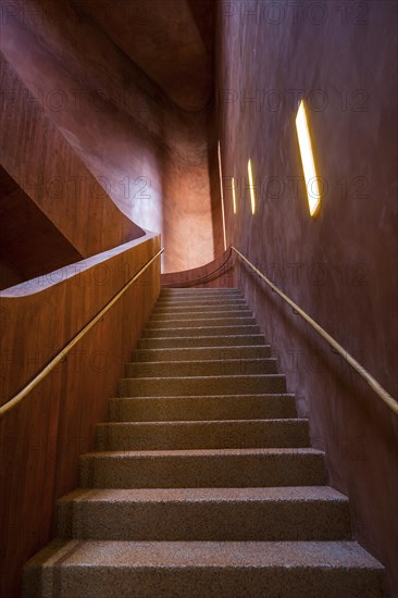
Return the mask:
POLYGON ((58 537, 95 540, 350 539, 347 501, 62 501, 58 537))

